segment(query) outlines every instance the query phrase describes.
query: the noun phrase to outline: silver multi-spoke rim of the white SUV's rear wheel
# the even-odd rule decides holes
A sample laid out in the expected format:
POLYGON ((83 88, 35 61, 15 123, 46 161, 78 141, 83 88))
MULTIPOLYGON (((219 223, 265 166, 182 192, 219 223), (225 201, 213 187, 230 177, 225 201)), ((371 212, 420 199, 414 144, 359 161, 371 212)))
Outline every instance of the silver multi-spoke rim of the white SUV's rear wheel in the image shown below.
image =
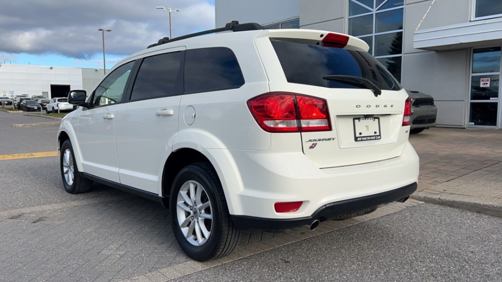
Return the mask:
POLYGON ((212 205, 204 187, 193 180, 185 182, 178 192, 176 215, 181 233, 194 246, 207 242, 212 230, 212 205))

